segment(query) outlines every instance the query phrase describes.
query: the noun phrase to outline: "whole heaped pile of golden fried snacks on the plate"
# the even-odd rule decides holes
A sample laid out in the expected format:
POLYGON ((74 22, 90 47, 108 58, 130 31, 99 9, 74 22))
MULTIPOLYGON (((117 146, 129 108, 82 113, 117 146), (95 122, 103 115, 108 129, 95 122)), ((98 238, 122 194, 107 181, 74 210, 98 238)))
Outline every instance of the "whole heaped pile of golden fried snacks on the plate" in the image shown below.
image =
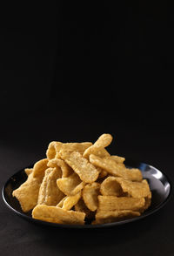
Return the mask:
POLYGON ((43 221, 104 224, 140 216, 151 205, 151 190, 142 172, 127 168, 125 158, 105 149, 112 136, 83 143, 50 142, 46 158, 13 191, 23 212, 43 221))

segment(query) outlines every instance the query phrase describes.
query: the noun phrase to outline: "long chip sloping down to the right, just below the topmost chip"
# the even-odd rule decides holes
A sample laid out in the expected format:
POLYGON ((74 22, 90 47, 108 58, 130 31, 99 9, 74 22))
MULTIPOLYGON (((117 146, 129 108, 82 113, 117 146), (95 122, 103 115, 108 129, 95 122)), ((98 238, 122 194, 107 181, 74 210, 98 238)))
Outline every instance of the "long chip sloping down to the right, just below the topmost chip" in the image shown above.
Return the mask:
POLYGON ((132 181, 141 181, 143 179, 142 173, 139 171, 139 169, 128 169, 123 164, 117 164, 117 162, 112 158, 100 158, 91 154, 90 163, 97 167, 103 168, 106 172, 109 172, 113 176, 130 179, 132 181))

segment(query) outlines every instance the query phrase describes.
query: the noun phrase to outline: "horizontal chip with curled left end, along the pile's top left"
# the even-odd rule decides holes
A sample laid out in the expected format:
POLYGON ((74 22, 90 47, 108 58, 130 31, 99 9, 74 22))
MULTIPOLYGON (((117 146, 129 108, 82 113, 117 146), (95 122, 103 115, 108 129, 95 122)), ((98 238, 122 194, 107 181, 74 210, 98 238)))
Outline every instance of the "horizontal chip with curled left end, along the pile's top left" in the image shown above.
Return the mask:
POLYGON ((92 145, 91 142, 82 142, 82 143, 62 143, 59 141, 52 141, 47 149, 46 156, 50 160, 52 158, 60 158, 60 150, 68 152, 81 152, 84 151, 92 145))

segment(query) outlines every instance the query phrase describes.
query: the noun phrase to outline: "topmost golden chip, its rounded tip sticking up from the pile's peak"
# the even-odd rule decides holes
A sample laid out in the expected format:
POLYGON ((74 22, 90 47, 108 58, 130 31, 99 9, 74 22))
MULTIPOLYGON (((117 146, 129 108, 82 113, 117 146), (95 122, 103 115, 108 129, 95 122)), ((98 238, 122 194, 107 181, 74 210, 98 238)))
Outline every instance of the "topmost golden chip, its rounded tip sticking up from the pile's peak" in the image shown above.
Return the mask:
POLYGON ((102 134, 93 145, 85 150, 83 157, 89 158, 90 154, 95 154, 101 158, 110 156, 109 152, 107 152, 104 147, 110 145, 111 141, 112 136, 109 133, 102 134))

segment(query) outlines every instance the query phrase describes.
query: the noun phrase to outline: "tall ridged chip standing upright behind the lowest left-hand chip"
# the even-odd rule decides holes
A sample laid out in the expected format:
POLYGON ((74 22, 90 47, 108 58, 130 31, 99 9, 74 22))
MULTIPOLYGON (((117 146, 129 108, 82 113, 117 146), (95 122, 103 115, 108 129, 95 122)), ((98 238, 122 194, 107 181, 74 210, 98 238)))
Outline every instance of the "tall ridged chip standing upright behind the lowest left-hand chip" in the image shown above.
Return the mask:
POLYGON ((38 205, 57 205, 64 198, 64 193, 57 187, 57 179, 61 174, 61 170, 57 168, 48 168, 45 171, 38 193, 38 205))

